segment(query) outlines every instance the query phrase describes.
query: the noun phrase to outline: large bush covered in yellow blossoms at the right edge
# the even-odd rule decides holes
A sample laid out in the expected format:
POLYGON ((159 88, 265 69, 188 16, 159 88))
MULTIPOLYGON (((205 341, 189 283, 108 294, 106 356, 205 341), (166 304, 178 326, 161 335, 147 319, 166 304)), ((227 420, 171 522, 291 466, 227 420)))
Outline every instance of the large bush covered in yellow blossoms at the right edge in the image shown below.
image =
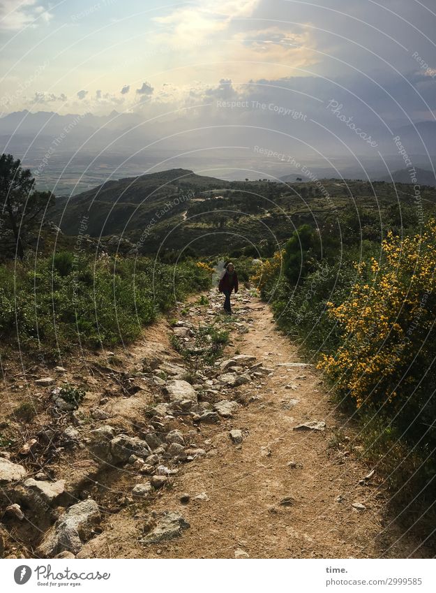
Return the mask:
POLYGON ((389 404, 398 395, 423 404, 433 374, 435 266, 434 220, 414 237, 388 233, 381 261, 357 266, 349 298, 328 303, 343 342, 318 366, 358 407, 389 404))

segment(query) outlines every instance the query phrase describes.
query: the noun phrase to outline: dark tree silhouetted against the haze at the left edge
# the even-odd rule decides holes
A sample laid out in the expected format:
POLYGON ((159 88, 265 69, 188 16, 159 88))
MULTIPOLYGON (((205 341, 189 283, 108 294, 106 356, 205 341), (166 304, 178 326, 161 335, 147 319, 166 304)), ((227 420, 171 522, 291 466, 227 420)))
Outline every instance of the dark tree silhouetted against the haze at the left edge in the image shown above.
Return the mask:
POLYGON ((1 240, 24 257, 23 244, 40 221, 40 214, 54 203, 50 191, 36 191, 30 169, 23 169, 12 154, 0 156, 1 240))

